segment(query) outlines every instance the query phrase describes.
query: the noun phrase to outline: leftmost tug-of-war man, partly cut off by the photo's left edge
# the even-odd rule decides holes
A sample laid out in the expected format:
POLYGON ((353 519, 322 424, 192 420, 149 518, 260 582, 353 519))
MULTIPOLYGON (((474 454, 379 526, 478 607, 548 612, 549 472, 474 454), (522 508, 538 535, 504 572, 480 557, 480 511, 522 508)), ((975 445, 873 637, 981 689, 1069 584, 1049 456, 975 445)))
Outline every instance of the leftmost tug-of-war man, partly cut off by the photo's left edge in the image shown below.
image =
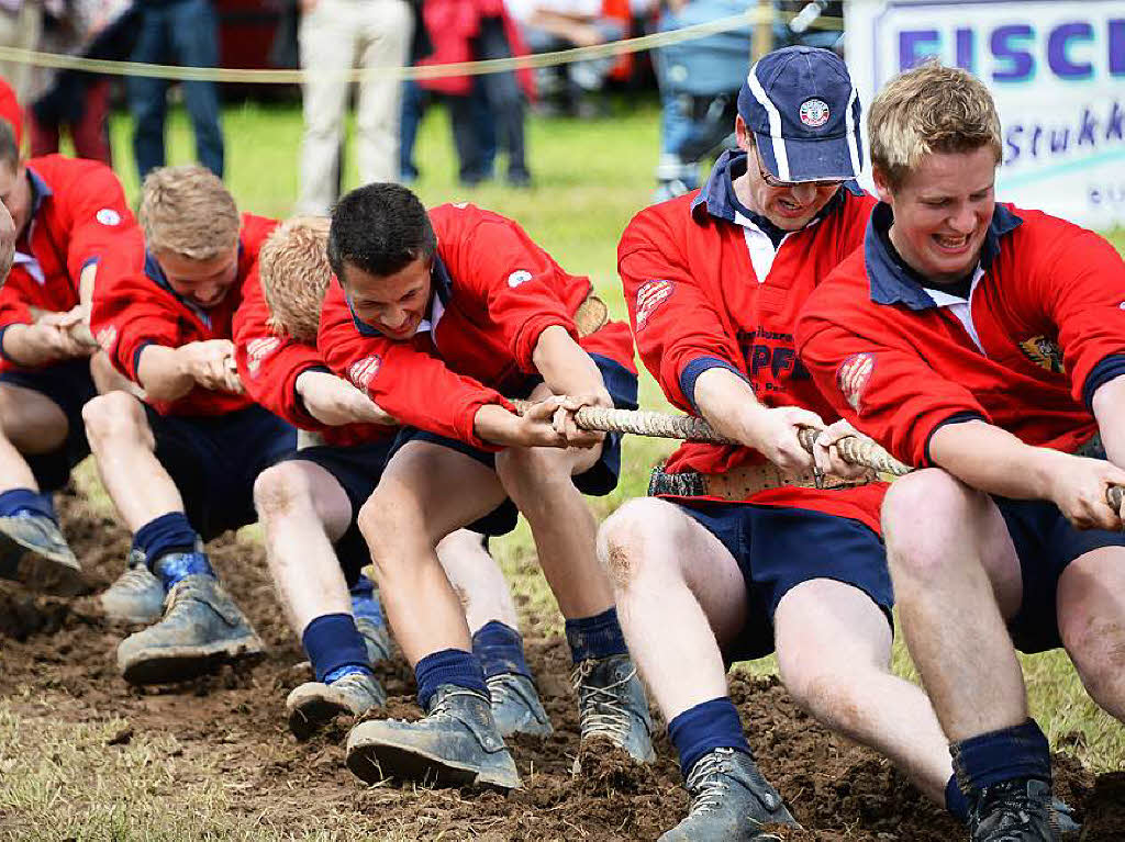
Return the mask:
POLYGON ((0 291, 0 576, 76 594, 86 583, 52 492, 90 452, 81 419, 98 393, 90 290, 112 251, 135 248, 136 223, 109 168, 61 155, 25 161, 6 120, 0 197, 17 230, 0 291))

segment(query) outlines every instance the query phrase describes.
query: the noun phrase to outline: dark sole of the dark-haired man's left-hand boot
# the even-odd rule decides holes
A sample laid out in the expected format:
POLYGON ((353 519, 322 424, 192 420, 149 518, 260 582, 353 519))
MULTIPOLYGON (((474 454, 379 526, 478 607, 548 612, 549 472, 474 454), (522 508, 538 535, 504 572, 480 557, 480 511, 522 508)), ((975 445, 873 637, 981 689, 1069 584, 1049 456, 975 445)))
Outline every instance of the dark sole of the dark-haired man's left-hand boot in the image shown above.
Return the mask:
POLYGON ((400 778, 435 787, 471 787, 498 793, 508 793, 523 786, 519 773, 513 780, 502 772, 480 771, 413 745, 349 740, 346 762, 352 775, 366 784, 377 784, 384 778, 400 778))

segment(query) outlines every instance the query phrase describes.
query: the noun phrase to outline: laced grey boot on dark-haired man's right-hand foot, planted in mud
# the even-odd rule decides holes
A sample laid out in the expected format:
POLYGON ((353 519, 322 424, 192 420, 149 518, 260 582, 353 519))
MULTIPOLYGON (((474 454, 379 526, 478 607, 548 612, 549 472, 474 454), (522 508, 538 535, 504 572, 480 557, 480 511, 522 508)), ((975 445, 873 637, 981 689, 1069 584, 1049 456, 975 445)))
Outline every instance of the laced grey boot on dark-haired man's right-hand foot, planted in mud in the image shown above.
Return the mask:
POLYGON ((640 763, 656 759, 648 699, 629 655, 582 661, 570 680, 578 696, 583 740, 604 736, 640 763))

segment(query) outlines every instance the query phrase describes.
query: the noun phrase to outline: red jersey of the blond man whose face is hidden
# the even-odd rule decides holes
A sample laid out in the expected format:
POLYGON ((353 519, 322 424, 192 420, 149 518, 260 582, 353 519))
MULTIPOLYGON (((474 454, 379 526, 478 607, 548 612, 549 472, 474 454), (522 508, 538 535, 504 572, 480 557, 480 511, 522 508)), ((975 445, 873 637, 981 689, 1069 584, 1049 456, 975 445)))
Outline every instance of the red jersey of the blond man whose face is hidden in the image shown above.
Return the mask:
POLYGON ((297 395, 297 378, 310 369, 327 371, 315 345, 298 342, 270 326, 270 308, 255 265, 242 290, 234 320, 234 350, 246 393, 296 427, 320 433, 325 444, 345 447, 393 438, 397 427, 378 424, 322 424, 297 395))

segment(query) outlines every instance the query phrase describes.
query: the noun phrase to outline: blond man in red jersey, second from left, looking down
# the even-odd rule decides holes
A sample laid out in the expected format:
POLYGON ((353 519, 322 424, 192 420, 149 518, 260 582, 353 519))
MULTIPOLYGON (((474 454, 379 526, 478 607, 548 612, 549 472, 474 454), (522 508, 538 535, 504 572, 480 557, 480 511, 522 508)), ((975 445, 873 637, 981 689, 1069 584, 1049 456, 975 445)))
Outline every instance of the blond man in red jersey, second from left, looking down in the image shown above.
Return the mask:
POLYGON ((109 392, 82 416, 102 485, 133 532, 129 568, 102 606, 148 622, 163 606, 159 623, 120 643, 117 663, 132 683, 161 683, 261 657, 202 541, 254 522, 253 482, 294 449, 296 431, 243 393, 232 343, 277 223, 240 218, 223 182, 197 165, 150 173, 140 218, 144 247, 105 268, 91 323, 144 399, 109 392))

